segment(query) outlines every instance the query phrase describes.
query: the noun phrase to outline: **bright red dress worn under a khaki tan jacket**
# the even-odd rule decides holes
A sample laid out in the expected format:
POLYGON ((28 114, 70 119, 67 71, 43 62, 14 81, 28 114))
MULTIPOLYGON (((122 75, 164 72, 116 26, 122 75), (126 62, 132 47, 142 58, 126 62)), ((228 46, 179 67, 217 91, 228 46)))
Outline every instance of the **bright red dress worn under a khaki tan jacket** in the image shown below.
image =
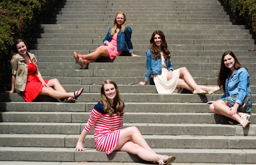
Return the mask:
MULTIPOLYGON (((24 91, 21 91, 22 97, 25 99, 26 102, 33 101, 39 94, 39 92, 42 91, 42 88, 44 87, 42 82, 39 81, 39 77, 37 74, 35 74, 35 71, 37 71, 37 68, 35 67, 35 64, 33 61, 29 58, 30 62, 27 62, 27 83, 26 88, 24 91)), ((49 80, 46 80, 45 83, 48 83, 49 80)))

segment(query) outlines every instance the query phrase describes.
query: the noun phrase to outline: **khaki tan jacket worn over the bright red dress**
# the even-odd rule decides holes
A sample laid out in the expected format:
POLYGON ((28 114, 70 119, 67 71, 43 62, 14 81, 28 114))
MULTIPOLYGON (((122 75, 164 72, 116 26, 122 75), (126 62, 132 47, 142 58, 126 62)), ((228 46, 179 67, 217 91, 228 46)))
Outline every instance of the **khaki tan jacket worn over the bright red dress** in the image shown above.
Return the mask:
MULTIPOLYGON (((37 71, 39 71, 39 66, 37 63, 37 59, 35 58, 34 54, 27 52, 30 56, 32 62, 37 67, 37 71)), ((16 75, 15 78, 15 89, 19 91, 24 91, 27 83, 27 63, 22 55, 16 54, 14 58, 11 60, 11 68, 12 74, 16 75)))

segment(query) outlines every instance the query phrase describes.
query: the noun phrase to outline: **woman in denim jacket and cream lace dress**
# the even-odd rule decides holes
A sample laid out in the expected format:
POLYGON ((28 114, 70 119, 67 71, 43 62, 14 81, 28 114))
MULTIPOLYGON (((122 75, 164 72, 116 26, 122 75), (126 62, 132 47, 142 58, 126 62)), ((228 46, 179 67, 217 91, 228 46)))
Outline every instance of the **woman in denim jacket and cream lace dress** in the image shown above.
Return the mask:
POLYGON ((213 94, 219 90, 217 86, 197 85, 186 67, 173 69, 170 52, 162 31, 154 31, 150 43, 149 49, 146 51, 147 71, 145 79, 138 85, 146 85, 153 74, 158 93, 181 93, 183 88, 193 91, 193 94, 213 94))

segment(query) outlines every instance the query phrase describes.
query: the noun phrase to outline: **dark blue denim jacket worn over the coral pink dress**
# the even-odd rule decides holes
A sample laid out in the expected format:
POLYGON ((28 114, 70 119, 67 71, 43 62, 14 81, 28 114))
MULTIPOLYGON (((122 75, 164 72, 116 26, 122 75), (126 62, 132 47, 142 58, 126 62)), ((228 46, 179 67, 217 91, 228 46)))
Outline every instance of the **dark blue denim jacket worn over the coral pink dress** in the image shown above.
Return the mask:
MULTIPOLYGON (((106 37, 103 40, 104 45, 106 42, 110 42, 113 37, 110 34, 110 30, 112 28, 113 27, 109 28, 109 32, 107 33, 106 37)), ((118 51, 129 51, 129 53, 133 52, 133 44, 131 43, 131 33, 132 33, 131 28, 128 25, 125 26, 125 31, 123 33, 121 33, 121 30, 119 30, 117 34, 117 50, 118 51)))

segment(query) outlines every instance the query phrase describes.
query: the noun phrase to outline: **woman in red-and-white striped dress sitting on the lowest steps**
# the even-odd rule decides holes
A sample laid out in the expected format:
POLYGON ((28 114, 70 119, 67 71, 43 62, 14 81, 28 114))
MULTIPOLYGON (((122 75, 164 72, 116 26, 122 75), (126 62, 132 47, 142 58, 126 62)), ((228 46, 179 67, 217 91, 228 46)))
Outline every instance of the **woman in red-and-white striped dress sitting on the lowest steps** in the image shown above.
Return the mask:
POLYGON ((94 129, 95 146, 98 151, 110 154, 113 151, 124 151, 136 154, 140 158, 166 165, 175 160, 175 156, 158 155, 147 144, 141 132, 136 127, 123 129, 123 114, 125 104, 120 99, 117 84, 105 80, 101 85, 101 98, 90 113, 88 122, 78 140, 75 151, 85 151, 83 141, 94 129), (131 141, 130 139, 133 139, 131 141))

